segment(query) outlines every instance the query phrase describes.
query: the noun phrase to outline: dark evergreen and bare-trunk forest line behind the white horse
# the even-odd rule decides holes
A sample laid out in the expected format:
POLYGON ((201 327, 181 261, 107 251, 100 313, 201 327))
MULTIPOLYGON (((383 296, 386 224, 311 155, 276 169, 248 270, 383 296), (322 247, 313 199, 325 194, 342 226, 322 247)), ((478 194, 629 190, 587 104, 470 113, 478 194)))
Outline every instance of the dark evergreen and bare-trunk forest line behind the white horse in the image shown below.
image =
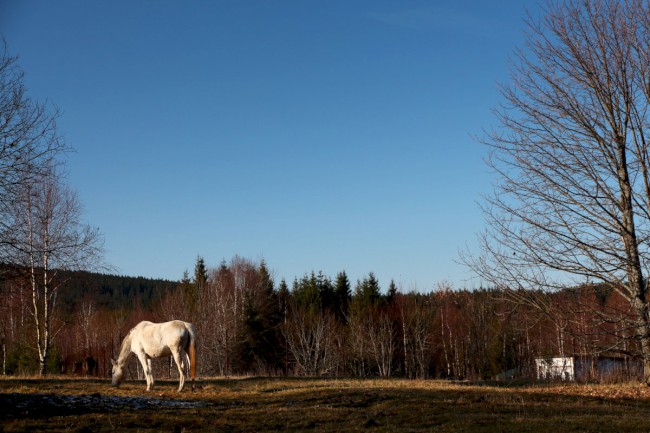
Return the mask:
MULTIPOLYGON (((240 257, 215 268, 198 258, 194 275, 178 283, 75 276, 53 323, 50 373, 108 375, 122 338, 145 319, 194 323, 206 376, 535 377, 539 358, 638 353, 634 330, 623 317, 611 320, 628 314, 625 304, 597 285, 553 294, 444 286, 403 293, 393 282, 383 290, 372 273, 351 282, 345 272, 312 272, 276 283, 264 262, 240 257)), ((30 373, 29 299, 16 280, 1 290, 3 372, 30 373)), ((155 364, 158 375, 174 374, 155 364)), ((136 376, 134 358, 130 368, 136 376)))

